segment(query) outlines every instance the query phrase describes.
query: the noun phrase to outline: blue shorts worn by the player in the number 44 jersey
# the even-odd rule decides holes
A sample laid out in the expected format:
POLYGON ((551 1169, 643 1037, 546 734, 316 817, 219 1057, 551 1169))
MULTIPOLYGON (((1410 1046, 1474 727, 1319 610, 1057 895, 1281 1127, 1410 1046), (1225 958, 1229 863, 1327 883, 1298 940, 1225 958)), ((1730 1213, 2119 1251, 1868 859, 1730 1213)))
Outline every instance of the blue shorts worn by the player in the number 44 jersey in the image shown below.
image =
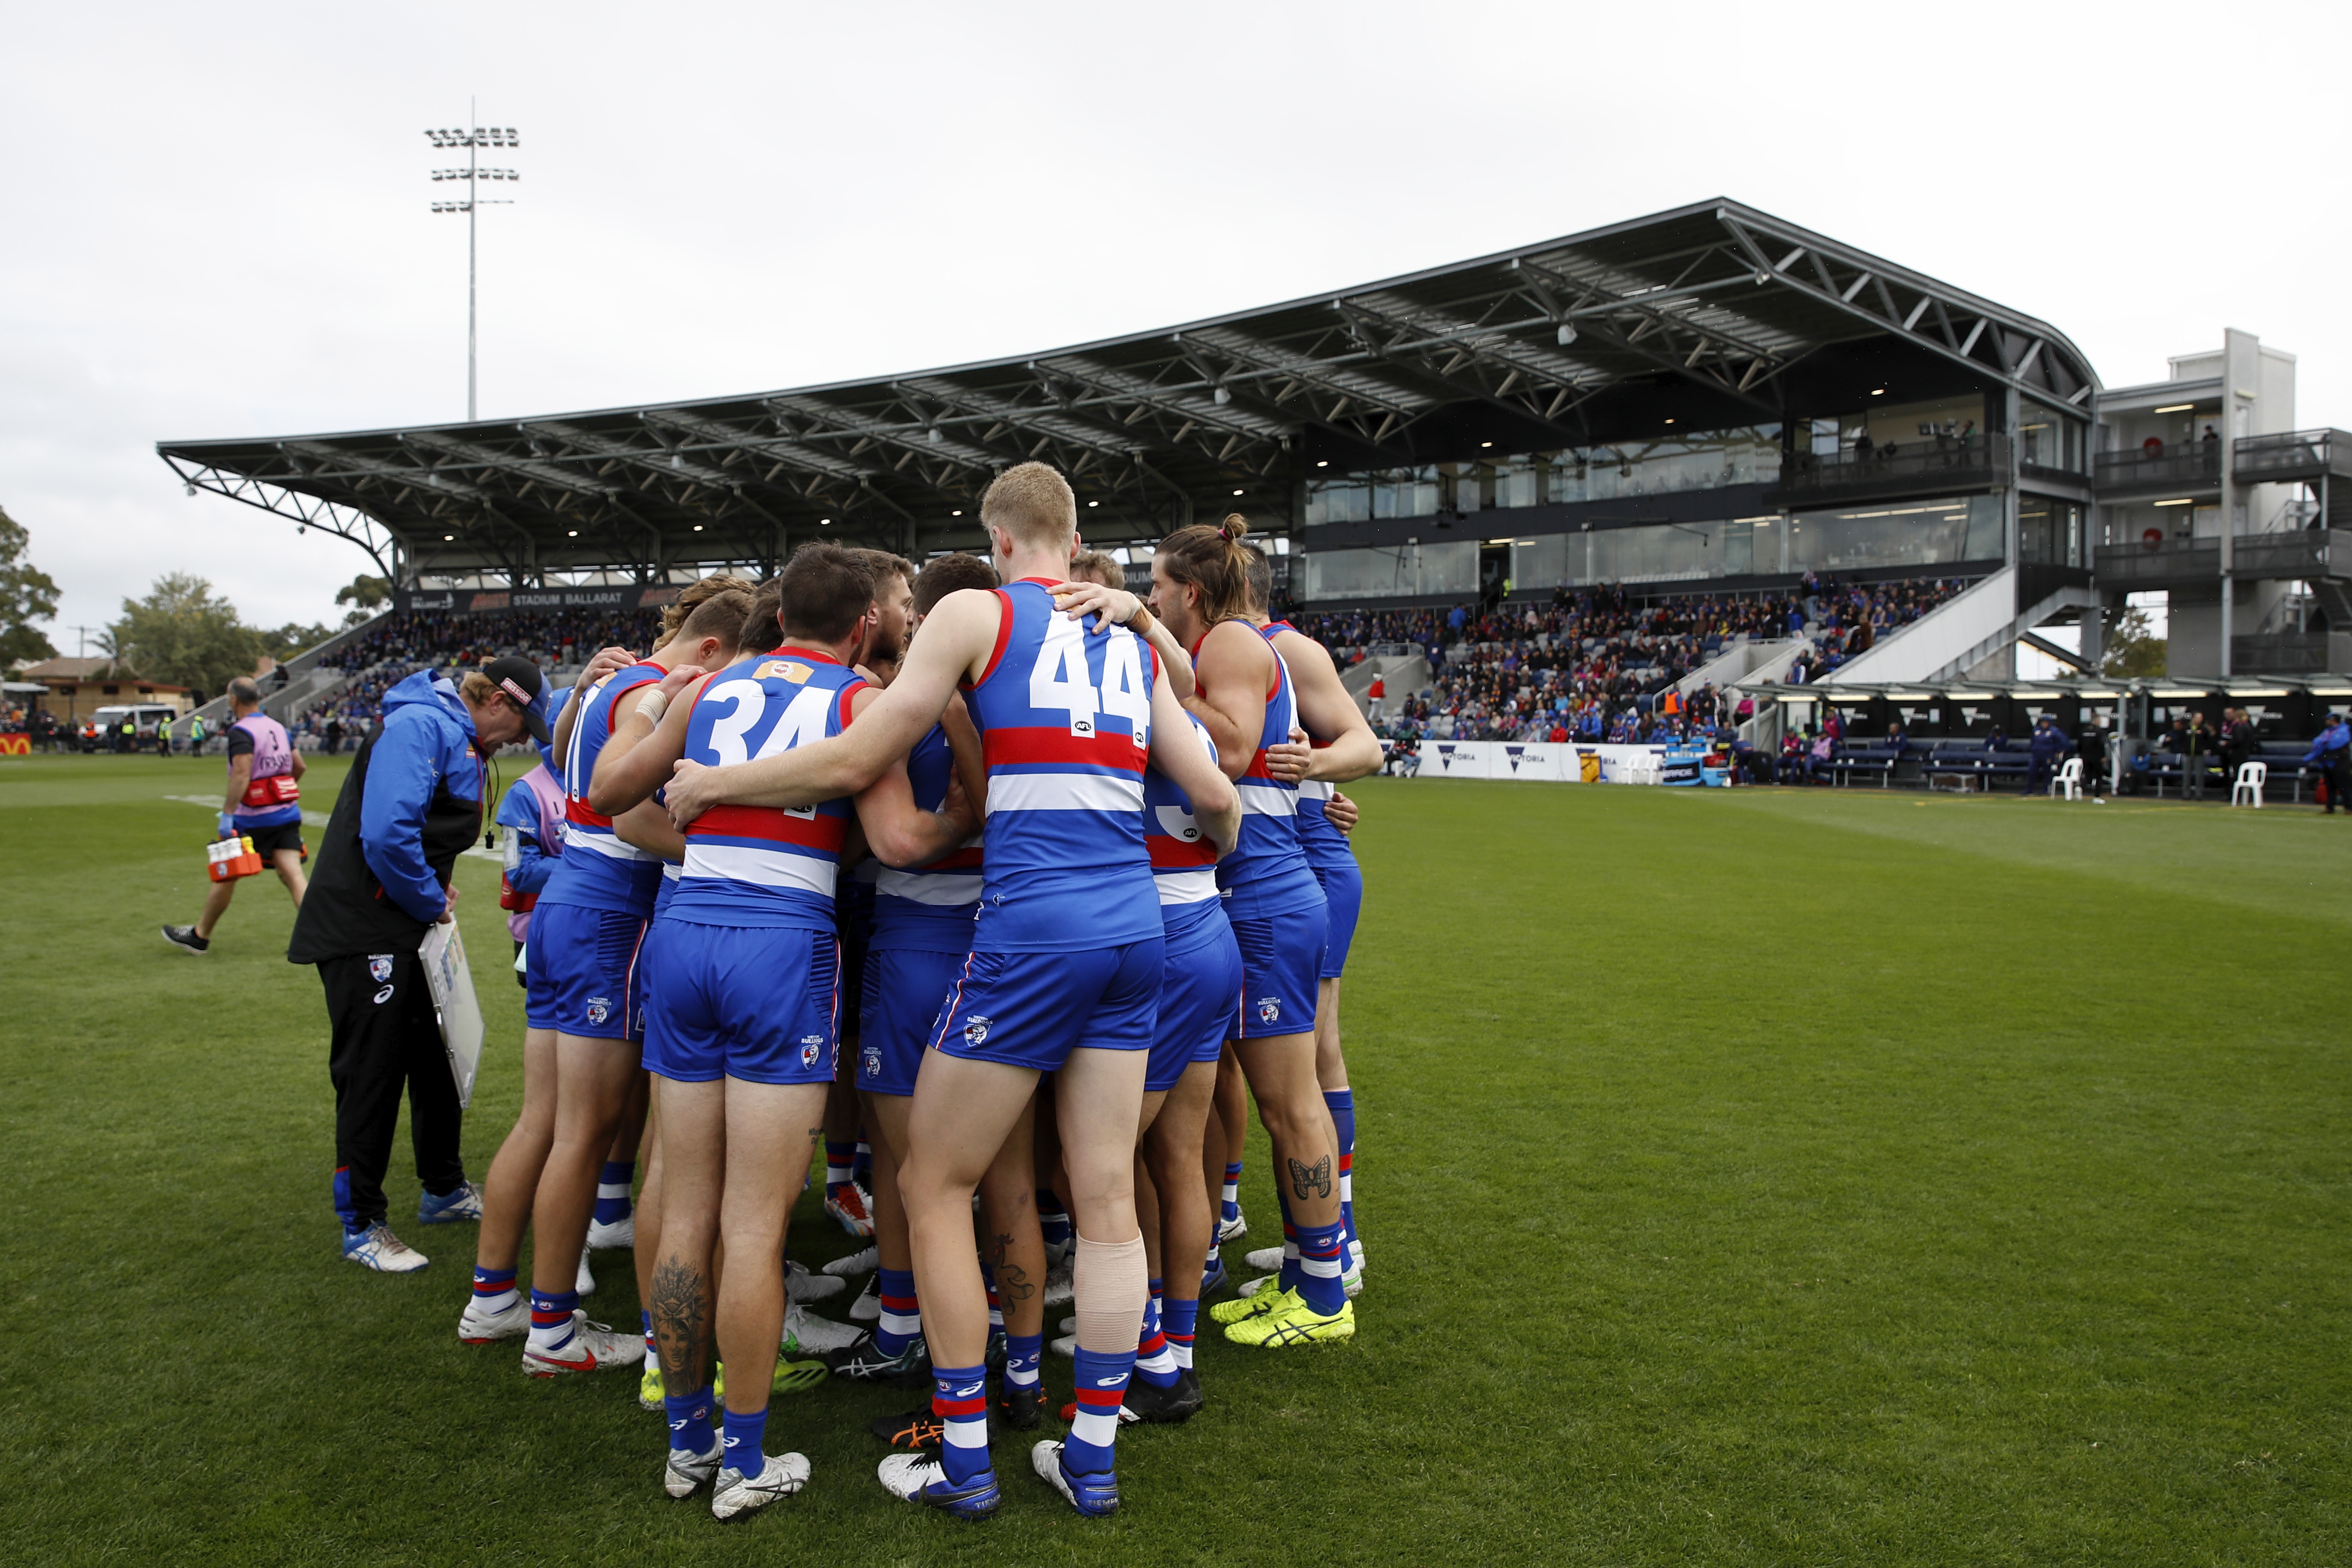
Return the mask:
POLYGON ((1037 1072, 1056 1072, 1070 1051, 1150 1051, 1164 950, 1152 936, 1084 952, 974 952, 931 1048, 1037 1072))

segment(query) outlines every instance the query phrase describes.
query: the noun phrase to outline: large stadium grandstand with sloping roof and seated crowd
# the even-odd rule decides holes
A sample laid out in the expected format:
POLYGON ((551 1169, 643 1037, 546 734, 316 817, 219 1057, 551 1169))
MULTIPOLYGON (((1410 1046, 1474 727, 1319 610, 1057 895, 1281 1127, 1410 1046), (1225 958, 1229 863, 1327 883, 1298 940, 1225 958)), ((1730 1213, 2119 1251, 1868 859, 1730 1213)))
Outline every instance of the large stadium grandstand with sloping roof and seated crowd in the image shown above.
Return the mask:
MULTIPOLYGON (((2152 585, 2180 599, 2173 677, 2213 722, 2232 663, 2324 696, 2352 663, 2326 548, 2352 437, 2281 437, 2241 409, 2251 435, 2223 463, 2216 388, 2267 388, 2281 355, 2230 334, 2211 360, 2126 388, 2110 421, 2056 327, 1715 200, 978 364, 158 451, 191 494, 327 529, 395 583, 386 618, 289 661, 270 701, 296 724, 360 719, 421 663, 562 668, 633 642, 677 583, 767 574, 807 538, 981 548, 981 489, 1047 458, 1136 585, 1169 529, 1249 515, 1282 607, 1352 686, 1395 689, 1388 729, 1651 738, 1729 722, 1724 693, 1745 691, 1745 738, 1769 748, 1785 703, 1757 708, 1755 686, 2013 684, 2020 646, 2089 675, 2152 585), (2183 487, 2185 510, 2157 494, 2183 487), (2213 520, 2249 508, 2300 531, 2232 552, 2213 520), (2079 628, 2072 649, 2056 625, 2079 628)), ((2265 407, 2291 421, 2291 381, 2265 407)), ((1790 712, 1820 726, 1830 708, 1790 712)))

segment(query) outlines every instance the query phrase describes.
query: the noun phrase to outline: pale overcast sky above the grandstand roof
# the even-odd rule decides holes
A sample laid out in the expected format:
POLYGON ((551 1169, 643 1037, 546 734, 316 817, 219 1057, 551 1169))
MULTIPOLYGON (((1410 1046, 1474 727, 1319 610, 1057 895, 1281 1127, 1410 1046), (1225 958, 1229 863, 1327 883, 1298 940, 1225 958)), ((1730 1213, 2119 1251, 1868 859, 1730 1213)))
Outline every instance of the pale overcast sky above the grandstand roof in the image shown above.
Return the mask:
POLYGON ((365 557, 165 437, 466 414, 421 134, 515 125, 482 416, 1025 353, 1729 195, 2039 315, 2110 386, 2244 327, 2352 423, 2326 5, 108 5, 0 52, 0 505, 52 639, 365 557))

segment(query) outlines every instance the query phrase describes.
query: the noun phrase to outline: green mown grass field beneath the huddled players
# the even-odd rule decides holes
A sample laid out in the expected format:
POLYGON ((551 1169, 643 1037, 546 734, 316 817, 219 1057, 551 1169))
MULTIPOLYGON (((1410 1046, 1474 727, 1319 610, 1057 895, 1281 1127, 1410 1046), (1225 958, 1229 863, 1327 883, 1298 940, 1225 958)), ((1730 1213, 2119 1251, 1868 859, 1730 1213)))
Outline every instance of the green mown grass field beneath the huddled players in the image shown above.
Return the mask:
MULTIPOLYGON (((433 1267, 336 1260, 285 896, 155 936, 209 832, 162 797, 216 780, 0 764, 0 1561, 2352 1561, 2352 823, 1369 780, 1357 1340, 1204 1333, 1108 1523, 1004 1446, 985 1528, 889 1502, 908 1396, 790 1396, 809 1490, 720 1528, 633 1378, 456 1342, 473 1232, 402 1225, 405 1138, 433 1267)), ((520 997, 461 882, 480 1175, 520 997)))

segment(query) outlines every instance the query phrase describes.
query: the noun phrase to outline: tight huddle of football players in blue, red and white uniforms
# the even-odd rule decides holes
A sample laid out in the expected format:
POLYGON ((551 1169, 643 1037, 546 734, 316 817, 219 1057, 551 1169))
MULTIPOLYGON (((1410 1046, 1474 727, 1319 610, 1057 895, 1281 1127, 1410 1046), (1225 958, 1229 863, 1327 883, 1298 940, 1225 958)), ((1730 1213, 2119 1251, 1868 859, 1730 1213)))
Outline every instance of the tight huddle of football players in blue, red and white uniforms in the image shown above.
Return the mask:
POLYGON ((1282 1246, 1209 1316, 1265 1349, 1355 1333, 1336 785, 1378 741, 1268 623, 1240 517, 1162 541, 1148 604, 1051 468, 1000 475, 981 520, 985 562, 811 543, 696 583, 661 646, 588 665, 499 811, 524 1105, 459 1335, 520 1338, 534 1375, 637 1371, 668 1495, 708 1486, 717 1519, 809 1481, 769 1399, 828 1375, 929 1385, 875 1422, 880 1481, 993 1514, 990 1436, 1051 1410, 1061 1300, 1068 1436, 1030 1462, 1112 1512, 1120 1425, 1204 1399, 1244 1093, 1282 1246), (873 1244, 811 1272, 786 1222, 818 1143, 826 1213, 873 1244), (642 1340, 581 1309, 593 1246, 633 1248, 642 1340), (849 1324, 809 1309, 868 1269, 849 1324))

